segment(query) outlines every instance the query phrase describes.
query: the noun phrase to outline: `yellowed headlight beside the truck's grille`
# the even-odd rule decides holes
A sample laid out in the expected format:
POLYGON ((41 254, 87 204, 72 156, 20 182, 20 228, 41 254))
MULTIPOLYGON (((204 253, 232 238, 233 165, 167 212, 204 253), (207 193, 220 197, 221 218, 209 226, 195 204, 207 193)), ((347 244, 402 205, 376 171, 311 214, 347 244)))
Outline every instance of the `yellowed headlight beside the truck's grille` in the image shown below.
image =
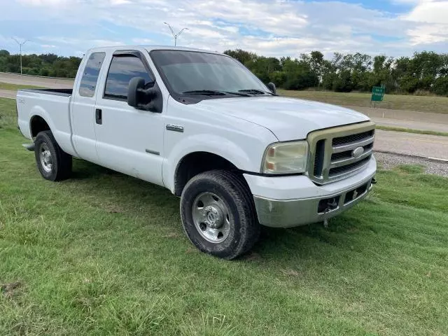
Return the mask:
POLYGON ((266 148, 263 174, 294 174, 307 171, 307 141, 279 142, 266 148))

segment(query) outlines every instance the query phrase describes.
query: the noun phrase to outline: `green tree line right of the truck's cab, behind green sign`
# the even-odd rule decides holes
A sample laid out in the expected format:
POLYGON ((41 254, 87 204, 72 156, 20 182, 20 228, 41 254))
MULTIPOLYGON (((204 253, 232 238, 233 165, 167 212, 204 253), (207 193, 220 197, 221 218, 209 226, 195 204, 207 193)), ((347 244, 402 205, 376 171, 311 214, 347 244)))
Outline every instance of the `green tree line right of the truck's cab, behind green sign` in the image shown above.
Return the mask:
POLYGON ((448 96, 448 54, 414 52, 412 57, 370 56, 335 52, 325 59, 311 51, 298 58, 264 57, 246 50, 224 52, 239 60, 264 83, 273 82, 286 90, 309 87, 351 92, 369 92, 384 85, 388 93, 432 92, 448 96))

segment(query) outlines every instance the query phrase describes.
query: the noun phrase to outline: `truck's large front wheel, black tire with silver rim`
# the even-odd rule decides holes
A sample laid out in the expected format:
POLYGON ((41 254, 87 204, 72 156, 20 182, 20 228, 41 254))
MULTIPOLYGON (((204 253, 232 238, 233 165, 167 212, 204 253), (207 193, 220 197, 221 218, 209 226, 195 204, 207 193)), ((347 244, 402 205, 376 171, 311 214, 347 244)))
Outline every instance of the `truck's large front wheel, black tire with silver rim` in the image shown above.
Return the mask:
POLYGON ((236 258, 260 235, 251 192, 240 176, 228 171, 190 179, 181 196, 181 218, 190 241, 218 258, 236 258))

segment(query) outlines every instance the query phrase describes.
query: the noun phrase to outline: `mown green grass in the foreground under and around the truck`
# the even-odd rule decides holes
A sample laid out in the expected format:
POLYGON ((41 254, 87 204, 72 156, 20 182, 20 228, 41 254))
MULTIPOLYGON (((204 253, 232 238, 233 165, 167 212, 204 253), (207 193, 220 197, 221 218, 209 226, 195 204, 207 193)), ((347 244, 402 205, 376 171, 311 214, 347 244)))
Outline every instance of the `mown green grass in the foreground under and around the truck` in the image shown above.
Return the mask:
POLYGON ((329 229, 266 228, 229 262, 190 244, 164 188, 80 160, 43 180, 13 103, 0 99, 0 335, 448 333, 448 179, 381 171, 329 229))

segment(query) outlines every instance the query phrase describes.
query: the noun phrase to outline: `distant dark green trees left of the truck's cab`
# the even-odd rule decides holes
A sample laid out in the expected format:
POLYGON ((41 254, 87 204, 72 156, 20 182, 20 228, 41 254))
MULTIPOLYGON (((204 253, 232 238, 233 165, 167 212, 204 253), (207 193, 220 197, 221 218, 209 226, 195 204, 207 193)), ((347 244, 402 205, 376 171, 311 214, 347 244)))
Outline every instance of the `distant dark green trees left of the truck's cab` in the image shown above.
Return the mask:
MULTIPOLYGON (((22 55, 22 73, 36 76, 75 78, 81 62, 79 57, 55 54, 22 55)), ((20 55, 0 50, 0 71, 20 73, 20 55)))

